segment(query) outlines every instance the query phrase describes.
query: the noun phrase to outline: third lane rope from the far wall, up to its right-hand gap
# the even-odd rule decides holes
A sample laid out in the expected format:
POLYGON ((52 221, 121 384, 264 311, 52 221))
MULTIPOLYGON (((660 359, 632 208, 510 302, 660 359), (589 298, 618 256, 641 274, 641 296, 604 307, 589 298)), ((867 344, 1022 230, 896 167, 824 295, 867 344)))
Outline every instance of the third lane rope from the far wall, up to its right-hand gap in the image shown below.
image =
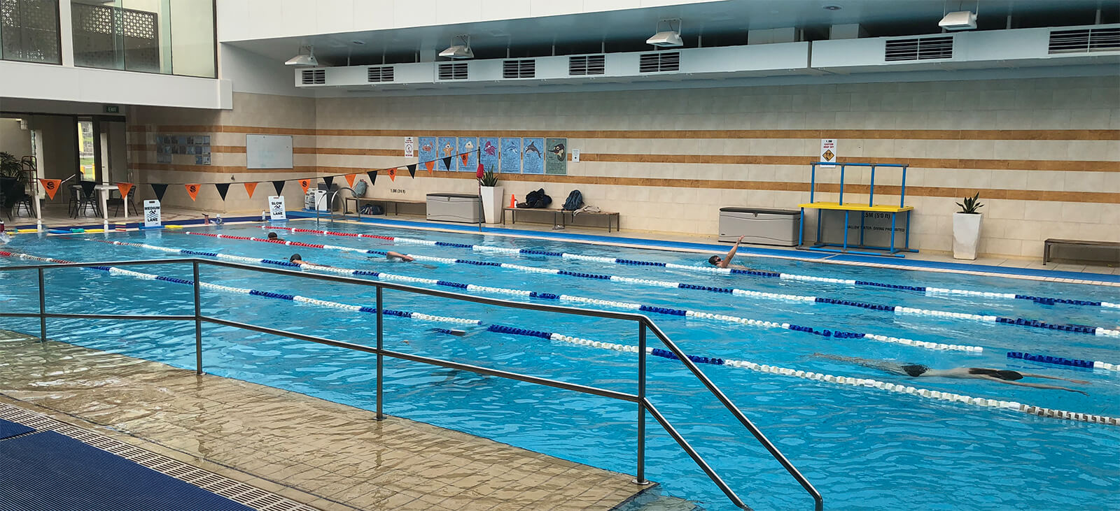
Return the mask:
MULTIPOLYGON (((203 252, 203 250, 189 250, 189 249, 180 249, 180 248, 160 247, 160 246, 156 246, 156 245, 146 245, 146 244, 140 244, 140 243, 114 242, 114 240, 102 240, 102 239, 93 239, 92 242, 109 243, 109 244, 113 244, 113 245, 122 245, 122 246, 130 246, 130 247, 137 247, 137 248, 148 248, 148 249, 161 250, 161 252, 168 252, 168 253, 175 253, 175 254, 200 255, 200 256, 217 257, 217 258, 222 258, 222 259, 226 259, 226 261, 234 261, 234 262, 239 262, 239 263, 264 263, 264 264, 276 264, 276 265, 280 265, 280 266, 293 266, 293 265, 296 265, 295 263, 288 263, 286 261, 260 259, 260 258, 254 258, 254 257, 243 257, 243 256, 235 256, 235 255, 230 255, 230 254, 218 254, 216 252, 203 252)), ((464 283, 457 283, 457 282, 450 282, 450 281, 440 281, 438 278, 423 278, 423 277, 413 277, 413 276, 407 276, 407 275, 394 275, 394 274, 384 273, 384 272, 371 272, 371 271, 366 271, 366 269, 338 268, 338 267, 333 267, 333 266, 320 266, 320 265, 306 264, 306 263, 304 265, 301 265, 301 266, 304 268, 306 268, 306 269, 315 269, 315 271, 320 271, 320 272, 337 273, 337 274, 342 274, 342 275, 372 276, 372 277, 375 277, 375 278, 382 278, 382 280, 386 280, 386 281, 409 282, 409 283, 414 283, 414 284, 442 285, 442 286, 447 286, 447 287, 456 287, 456 288, 466 290, 466 291, 477 291, 477 292, 484 292, 484 293, 495 293, 495 294, 505 294, 505 295, 528 296, 528 297, 542 299, 542 300, 559 300, 559 301, 563 301, 563 302, 576 302, 576 303, 586 303, 586 304, 592 304, 592 305, 614 306, 614 307, 618 307, 618 309, 627 309, 627 310, 635 310, 635 311, 643 311, 643 312, 654 312, 654 313, 659 313, 659 314, 679 315, 679 316, 687 316, 687 318, 698 318, 698 319, 722 321, 722 322, 727 322, 727 323, 746 324, 746 325, 749 325, 749 327, 758 327, 758 328, 767 328, 767 329, 793 330, 793 331, 796 331, 796 332, 812 333, 812 334, 821 335, 821 337, 825 337, 825 338, 834 338, 834 339, 870 339, 870 340, 879 341, 879 342, 890 342, 890 343, 896 343, 896 344, 912 346, 912 347, 916 347, 916 348, 925 348, 925 349, 931 349, 931 350, 968 351, 968 352, 973 352, 973 353, 981 353, 981 352, 983 352, 983 348, 981 348, 979 346, 945 344, 945 343, 940 343, 940 342, 916 341, 916 340, 913 340, 913 339, 896 338, 896 337, 889 337, 889 335, 880 335, 880 334, 875 334, 875 333, 846 332, 846 331, 839 331, 839 330, 832 330, 832 329, 814 329, 812 327, 803 327, 803 325, 799 325, 799 324, 777 323, 777 322, 774 322, 774 321, 762 321, 762 320, 754 320, 754 319, 748 319, 748 318, 739 318, 739 316, 725 315, 725 314, 712 314, 712 313, 708 313, 708 312, 690 311, 690 310, 683 310, 683 309, 668 309, 668 307, 660 307, 660 306, 653 306, 653 305, 643 305, 641 303, 617 302, 617 301, 612 301, 612 300, 589 299, 589 297, 573 296, 573 295, 568 295, 568 294, 541 293, 541 292, 535 292, 535 291, 514 290, 514 288, 508 288, 508 287, 482 286, 482 285, 464 284, 464 283)))

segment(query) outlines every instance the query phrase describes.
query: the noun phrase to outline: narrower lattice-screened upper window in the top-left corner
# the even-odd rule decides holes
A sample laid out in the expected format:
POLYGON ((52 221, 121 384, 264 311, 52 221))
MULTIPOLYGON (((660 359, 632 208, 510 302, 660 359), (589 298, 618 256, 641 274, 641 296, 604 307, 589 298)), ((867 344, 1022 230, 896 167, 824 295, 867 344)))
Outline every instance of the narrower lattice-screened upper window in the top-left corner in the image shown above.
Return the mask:
POLYGON ((0 0, 0 58, 62 64, 58 0, 0 0))

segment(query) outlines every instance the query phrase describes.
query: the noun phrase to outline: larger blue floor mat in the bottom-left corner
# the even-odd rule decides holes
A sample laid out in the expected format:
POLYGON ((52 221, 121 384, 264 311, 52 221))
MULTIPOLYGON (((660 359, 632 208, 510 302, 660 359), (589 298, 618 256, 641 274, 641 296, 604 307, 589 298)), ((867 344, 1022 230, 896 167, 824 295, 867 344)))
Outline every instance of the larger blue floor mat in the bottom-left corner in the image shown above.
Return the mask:
POLYGON ((250 511, 224 496, 43 432, 0 442, 2 511, 250 511))

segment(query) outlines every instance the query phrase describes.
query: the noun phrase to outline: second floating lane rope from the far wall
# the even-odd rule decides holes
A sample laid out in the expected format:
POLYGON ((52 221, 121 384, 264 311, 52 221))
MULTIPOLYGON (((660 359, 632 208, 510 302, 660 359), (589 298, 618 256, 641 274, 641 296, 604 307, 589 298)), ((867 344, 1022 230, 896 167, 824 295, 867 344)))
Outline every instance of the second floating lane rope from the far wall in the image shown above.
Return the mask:
MULTIPOLYGON (((310 229, 298 229, 298 230, 304 231, 304 230, 310 230, 310 229)), ((220 234, 213 234, 213 233, 189 233, 189 234, 196 234, 196 235, 202 235, 202 236, 209 236, 209 237, 215 237, 215 238, 228 238, 228 239, 244 239, 244 240, 252 240, 252 242, 280 243, 280 244, 286 244, 286 245, 296 245, 296 246, 314 247, 314 248, 332 248, 332 249, 342 248, 342 249, 346 249, 346 250, 349 250, 349 252, 360 252, 360 253, 379 254, 379 255, 384 255, 385 254, 382 250, 366 250, 366 249, 349 248, 349 247, 336 247, 334 245, 308 244, 308 243, 300 243, 300 242, 269 242, 267 239, 252 238, 252 237, 248 237, 248 236, 227 236, 227 235, 220 235, 220 234)), ((368 237, 375 237, 375 236, 368 236, 368 237)), ((388 238, 388 236, 376 236, 376 238, 382 239, 382 238, 388 238)), ((435 244, 435 243, 440 243, 440 242, 432 242, 432 243, 435 244)), ((749 297, 783 300, 783 301, 802 302, 802 303, 827 303, 827 304, 834 304, 834 305, 846 305, 846 306, 855 306, 855 307, 860 307, 860 309, 867 309, 867 310, 871 310, 871 311, 892 312, 895 315, 916 315, 916 316, 928 316, 928 318, 945 318, 945 319, 964 320, 964 321, 982 321, 982 322, 991 322, 991 323, 1000 323, 1000 324, 1032 327, 1032 328, 1038 328, 1038 329, 1060 330, 1060 331, 1072 332, 1072 333, 1085 333, 1085 334, 1091 334, 1091 335, 1120 337, 1120 330, 1105 329, 1103 327, 1092 327, 1092 325, 1083 325, 1083 324, 1049 323, 1049 322, 1045 322, 1045 321, 1030 320, 1030 319, 1024 319, 1024 318, 1002 318, 1002 316, 990 315, 990 314, 972 314, 972 313, 965 313, 965 312, 936 311, 936 310, 931 310, 931 309, 917 309, 917 307, 907 307, 907 306, 902 306, 902 305, 887 305, 887 304, 857 302, 857 301, 852 301, 852 300, 829 299, 829 297, 823 297, 823 296, 808 296, 808 295, 784 294, 784 293, 764 293, 764 292, 759 292, 759 291, 740 290, 740 288, 735 288, 735 287, 716 287, 716 286, 707 286, 707 285, 685 284, 685 283, 682 283, 682 282, 654 281, 654 280, 647 280, 647 278, 623 277, 623 276, 618 276, 618 275, 603 275, 603 274, 594 274, 594 273, 568 272, 566 269, 538 268, 538 267, 533 267, 533 266, 522 266, 522 265, 516 265, 516 264, 495 263, 495 262, 488 262, 488 261, 452 259, 452 258, 447 258, 447 257, 432 257, 432 256, 416 255, 416 254, 409 254, 409 256, 412 257, 412 258, 414 258, 414 259, 417 259, 417 261, 428 261, 428 262, 444 263, 444 264, 469 264, 469 265, 475 265, 475 266, 496 266, 496 267, 502 267, 502 268, 519 269, 519 271, 523 271, 523 272, 552 274, 552 275, 567 275, 567 276, 575 276, 575 277, 581 277, 581 278, 594 278, 594 280, 612 281, 612 282, 625 282, 625 283, 642 284, 642 285, 652 285, 652 286, 659 286, 659 287, 676 287, 676 288, 682 288, 682 290, 698 290, 698 291, 707 291, 707 292, 711 292, 711 293, 726 293, 726 294, 731 294, 731 295, 736 295, 736 296, 749 296, 749 297)), ((585 257, 585 256, 579 256, 579 257, 585 257)), ((689 267, 692 267, 692 266, 689 266, 689 267)), ((721 269, 721 268, 704 268, 704 269, 721 269)))

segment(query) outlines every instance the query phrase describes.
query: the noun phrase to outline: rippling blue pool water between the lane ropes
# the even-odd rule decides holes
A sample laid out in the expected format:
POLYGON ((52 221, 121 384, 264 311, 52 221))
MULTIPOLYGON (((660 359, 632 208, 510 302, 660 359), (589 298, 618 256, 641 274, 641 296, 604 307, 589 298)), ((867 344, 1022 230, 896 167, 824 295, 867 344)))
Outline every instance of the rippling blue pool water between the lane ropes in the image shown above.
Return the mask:
MULTIPOLYGON (((304 227, 306 223, 292 223, 304 227)), ((312 224, 314 225, 314 224, 312 224)), ((538 248, 642 261, 700 265, 703 257, 662 250, 554 243, 536 239, 435 233, 370 226, 334 230, 428 238, 501 247, 538 248)), ((206 231, 263 237, 255 226, 224 226, 206 231)), ((547 256, 483 254, 469 249, 421 246, 368 238, 280 233, 289 240, 368 249, 486 259, 571 272, 687 282, 972 312, 1052 323, 1116 329, 1120 310, 1039 305, 1023 300, 925 296, 921 293, 803 283, 746 275, 612 265, 547 256)), ((1012 400, 1048 408, 1120 415, 1120 372, 1077 369, 1011 360, 1007 351, 1026 351, 1120 362, 1117 338, 943 318, 903 316, 843 305, 788 302, 526 273, 493 266, 393 264, 361 254, 307 247, 215 239, 175 231, 86 235, 46 239, 20 235, 4 249, 72 261, 167 258, 176 254, 110 246, 92 239, 220 252, 256 258, 287 259, 298 252, 306 261, 346 268, 390 272, 494 287, 531 290, 604 300, 640 302, 788 322, 818 329, 879 333, 923 341, 981 346, 984 352, 932 351, 866 339, 836 339, 788 330, 758 329, 713 320, 650 314, 689 353, 748 360, 838 376, 874 378, 931 390, 1012 400), (829 353, 932 368, 990 367, 1088 380, 1053 382, 1089 396, 978 380, 909 378, 861 366, 811 357, 829 353)), ((0 258, 0 265, 28 264, 0 258)), ((802 275, 857 278, 904 285, 1017 292, 1077 300, 1120 301, 1117 287, 980 277, 927 272, 803 263, 773 258, 748 261, 754 267, 802 275)), ((130 269, 190 278, 183 266, 130 269)), ((47 272, 52 312, 192 313, 192 287, 158 281, 110 276, 102 272, 47 272)), ((373 305, 371 287, 295 280, 244 271, 203 267, 202 280, 234 287, 299 294, 355 305, 373 305)), ((427 286, 427 285, 421 285, 427 286)), ((437 287, 435 285, 430 287, 437 287)), ((448 290, 448 287, 439 287, 448 290)), ((35 275, 0 272, 0 309, 37 310, 35 275)), ((510 300, 536 300, 486 294, 510 300)), ((204 312, 235 321, 372 344, 374 316, 260 296, 204 291, 204 312)), ((543 301, 542 303, 556 303, 543 301)), ((553 313, 505 310, 447 299, 385 292, 385 306, 429 314, 479 319, 559 332, 596 341, 636 344, 633 323, 553 313)), ((430 332, 429 323, 385 319, 386 347, 622 391, 636 389, 635 353, 571 346, 544 339, 482 332, 459 338, 430 332)), ((37 334, 37 320, 3 320, 0 328, 37 334)), ((193 324, 118 321, 50 321, 50 337, 91 348, 194 368, 193 324)), ((655 341, 654 341, 655 342, 655 341)), ((655 346, 655 344, 651 344, 655 346)), ((206 327, 205 369, 209 373, 305 392, 352 406, 374 407, 374 358, 326 346, 206 327)), ((777 444, 825 498, 827 509, 1117 509, 1120 508, 1120 428, 1028 416, 887 392, 874 388, 767 375, 725 366, 701 366, 730 399, 777 444)), ((755 509, 811 509, 811 499, 754 442, 719 403, 675 361, 648 359, 648 395, 693 446, 755 509)), ((532 451, 634 473, 635 406, 498 378, 480 377, 411 362, 386 360, 385 410, 389 414, 464 430, 532 451)), ((671 495, 711 510, 731 509, 728 500, 676 444, 650 420, 647 477, 671 495)))

